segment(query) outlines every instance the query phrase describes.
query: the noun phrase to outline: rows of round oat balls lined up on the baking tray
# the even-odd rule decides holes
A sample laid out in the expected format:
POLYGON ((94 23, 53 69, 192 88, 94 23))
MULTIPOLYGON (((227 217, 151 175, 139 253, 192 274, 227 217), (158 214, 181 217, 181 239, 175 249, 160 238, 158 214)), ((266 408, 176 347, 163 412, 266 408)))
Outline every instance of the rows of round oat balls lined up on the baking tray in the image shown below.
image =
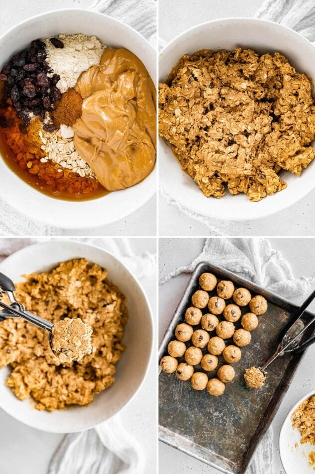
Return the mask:
POLYGON ((205 371, 213 371, 218 365, 218 355, 228 364, 238 362, 241 358, 241 350, 249 344, 251 340, 250 331, 258 326, 257 315, 263 314, 267 310, 267 301, 257 295, 253 298, 246 288, 235 290, 231 281, 221 280, 217 283, 216 277, 212 273, 203 273, 199 278, 202 290, 196 291, 192 296, 191 306, 186 310, 185 323, 178 324, 175 329, 176 340, 168 344, 168 356, 160 361, 163 371, 173 373, 181 380, 191 380, 191 385, 195 390, 207 390, 210 395, 222 395, 225 383, 234 379, 235 371, 231 365, 222 365, 217 371, 217 378, 208 380, 204 372, 195 372, 194 366, 201 364, 205 371), (217 296, 210 298, 207 291, 212 291, 216 287, 217 296), (233 298, 234 303, 226 305, 225 300, 233 298), (239 306, 249 304, 251 312, 243 315, 241 319, 242 328, 236 329, 233 322, 241 317, 239 306), (206 308, 210 313, 204 314, 201 309, 206 308), (223 313, 224 320, 219 321, 218 315, 223 313), (201 324, 203 329, 194 330, 192 326, 201 324), (210 338, 209 332, 216 332, 216 336, 210 338), (235 345, 225 345, 224 340, 233 337, 235 345), (193 346, 186 348, 185 342, 190 341, 193 346), (201 349, 208 348, 207 354, 203 355, 201 349), (177 358, 183 357, 185 362, 178 363, 177 358))

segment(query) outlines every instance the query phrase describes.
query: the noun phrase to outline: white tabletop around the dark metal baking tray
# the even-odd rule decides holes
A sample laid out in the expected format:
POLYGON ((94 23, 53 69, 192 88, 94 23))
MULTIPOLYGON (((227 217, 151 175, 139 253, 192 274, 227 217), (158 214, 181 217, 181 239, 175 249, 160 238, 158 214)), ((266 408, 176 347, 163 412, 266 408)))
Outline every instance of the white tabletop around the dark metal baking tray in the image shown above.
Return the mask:
MULTIPOLYGON (((271 238, 273 248, 280 251, 291 264, 295 276, 315 275, 315 241, 311 238, 271 238)), ((159 269, 168 273, 178 266, 191 263, 202 250, 204 238, 164 238, 159 239, 159 269)), ((173 316, 188 280, 189 274, 181 274, 159 287, 159 342, 173 316)), ((292 301, 301 304, 306 295, 295 297, 292 301)), ((310 306, 315 311, 315 302, 310 306)), ((281 425, 291 407, 306 393, 314 390, 315 345, 310 347, 291 386, 272 422, 274 430, 274 470, 273 474, 284 474, 279 457, 278 439, 281 425)), ((159 472, 160 474, 219 474, 219 471, 198 462, 164 443, 159 443, 159 472)))

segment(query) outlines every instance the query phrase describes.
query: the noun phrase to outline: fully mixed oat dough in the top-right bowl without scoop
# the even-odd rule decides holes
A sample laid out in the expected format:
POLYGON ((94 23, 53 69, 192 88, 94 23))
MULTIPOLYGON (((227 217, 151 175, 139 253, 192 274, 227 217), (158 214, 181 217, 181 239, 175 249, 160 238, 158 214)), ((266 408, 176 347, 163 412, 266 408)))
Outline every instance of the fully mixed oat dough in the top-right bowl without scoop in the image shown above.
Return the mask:
POLYGON ((185 55, 159 85, 159 134, 205 196, 260 201, 314 159, 312 82, 278 52, 185 55))

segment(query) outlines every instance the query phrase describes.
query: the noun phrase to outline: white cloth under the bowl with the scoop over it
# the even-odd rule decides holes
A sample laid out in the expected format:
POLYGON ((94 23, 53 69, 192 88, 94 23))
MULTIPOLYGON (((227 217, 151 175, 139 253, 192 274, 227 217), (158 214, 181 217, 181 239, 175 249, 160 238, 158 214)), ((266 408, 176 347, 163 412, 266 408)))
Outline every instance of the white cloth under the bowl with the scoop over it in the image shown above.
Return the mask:
MULTIPOLYGON (((47 238, 1 238, 0 256, 7 256, 47 238)), ((62 238, 61 240, 65 240, 62 238)), ((108 250, 138 278, 154 277, 156 254, 135 254, 128 238, 72 238, 108 250)), ((142 474, 145 453, 124 428, 120 416, 94 429, 65 435, 52 457, 47 474, 142 474)))

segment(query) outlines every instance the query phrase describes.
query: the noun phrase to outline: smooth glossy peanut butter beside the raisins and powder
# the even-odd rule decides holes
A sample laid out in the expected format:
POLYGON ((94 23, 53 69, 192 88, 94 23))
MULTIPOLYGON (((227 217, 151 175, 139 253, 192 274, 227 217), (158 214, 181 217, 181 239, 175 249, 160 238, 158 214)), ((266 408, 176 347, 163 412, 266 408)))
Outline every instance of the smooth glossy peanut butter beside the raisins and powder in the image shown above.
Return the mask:
POLYGON ((83 104, 74 145, 99 182, 117 191, 146 178, 155 163, 155 87, 140 59, 127 49, 107 49, 75 90, 83 104))

